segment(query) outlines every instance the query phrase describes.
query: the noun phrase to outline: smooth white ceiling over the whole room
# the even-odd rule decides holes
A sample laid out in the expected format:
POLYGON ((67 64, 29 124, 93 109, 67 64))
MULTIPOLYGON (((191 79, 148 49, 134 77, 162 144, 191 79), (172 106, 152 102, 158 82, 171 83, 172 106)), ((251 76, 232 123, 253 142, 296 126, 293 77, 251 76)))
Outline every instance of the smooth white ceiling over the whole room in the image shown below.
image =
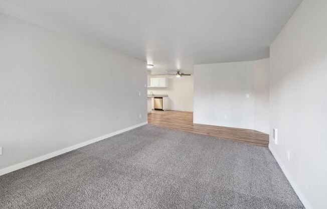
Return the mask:
POLYGON ((269 57, 302 0, 0 0, 0 12, 72 33, 157 69, 269 57))

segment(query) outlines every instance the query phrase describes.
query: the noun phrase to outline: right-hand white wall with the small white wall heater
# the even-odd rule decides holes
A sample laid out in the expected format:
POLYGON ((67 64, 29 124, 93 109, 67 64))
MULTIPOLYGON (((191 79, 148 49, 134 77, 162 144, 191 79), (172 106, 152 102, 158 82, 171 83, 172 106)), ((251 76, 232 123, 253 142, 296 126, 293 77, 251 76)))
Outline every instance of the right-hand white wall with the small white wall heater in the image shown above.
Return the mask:
POLYGON ((327 205, 326 11, 304 0, 270 46, 269 148, 307 208, 327 205))

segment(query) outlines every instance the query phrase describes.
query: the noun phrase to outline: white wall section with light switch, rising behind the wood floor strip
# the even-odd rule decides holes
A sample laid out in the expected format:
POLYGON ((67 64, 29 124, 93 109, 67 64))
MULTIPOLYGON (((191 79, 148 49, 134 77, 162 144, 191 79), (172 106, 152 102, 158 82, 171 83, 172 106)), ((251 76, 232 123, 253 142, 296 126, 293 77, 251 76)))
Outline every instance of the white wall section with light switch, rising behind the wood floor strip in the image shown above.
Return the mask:
POLYGON ((269 59, 195 65, 194 123, 268 133, 268 71, 269 59))

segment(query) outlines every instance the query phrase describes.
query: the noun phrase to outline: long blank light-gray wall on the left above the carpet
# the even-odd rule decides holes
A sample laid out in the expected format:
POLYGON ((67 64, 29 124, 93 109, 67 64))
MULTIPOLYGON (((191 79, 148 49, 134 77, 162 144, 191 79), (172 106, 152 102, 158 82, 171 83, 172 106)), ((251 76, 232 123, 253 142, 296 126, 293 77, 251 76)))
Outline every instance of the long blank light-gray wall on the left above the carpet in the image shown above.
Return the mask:
POLYGON ((146 122, 144 62, 2 14, 0 28, 0 169, 146 122))

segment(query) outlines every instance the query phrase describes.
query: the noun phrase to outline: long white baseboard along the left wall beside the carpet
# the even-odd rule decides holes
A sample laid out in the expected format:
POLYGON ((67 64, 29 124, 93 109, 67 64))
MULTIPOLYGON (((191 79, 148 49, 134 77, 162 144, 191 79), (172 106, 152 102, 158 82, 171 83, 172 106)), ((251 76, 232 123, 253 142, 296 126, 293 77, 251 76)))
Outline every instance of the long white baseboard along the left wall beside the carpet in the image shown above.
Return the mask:
POLYGON ((129 131, 129 130, 132 130, 132 129, 135 129, 137 127, 140 127, 140 126, 143 126, 143 125, 146 125, 147 122, 143 122, 143 123, 140 123, 140 124, 137 124, 137 125, 134 125, 134 126, 130 126, 130 127, 127 127, 125 129, 121 129, 121 130, 118 130, 118 131, 115 131, 113 133, 110 133, 110 134, 106 134, 106 135, 103 135, 103 136, 100 136, 100 137, 97 137, 97 138, 94 138, 94 139, 91 139, 91 140, 88 140, 86 142, 82 142, 82 143, 79 143, 79 144, 75 144, 73 146, 70 146, 70 147, 66 147, 64 149, 61 149, 61 150, 58 150, 58 151, 55 151, 55 152, 51 152, 51 153, 48 153, 48 154, 45 154, 45 155, 42 155, 40 157, 36 157, 36 158, 33 158, 31 160, 27 160, 27 161, 24 161, 24 162, 21 162, 21 163, 18 163, 18 164, 15 164, 15 165, 11 165, 7 168, 3 168, 3 169, 0 169, 0 176, 1 175, 4 175, 6 173, 10 173, 10 172, 13 172, 15 170, 18 170, 18 169, 21 169, 21 168, 24 168, 24 167, 27 167, 27 166, 30 166, 30 165, 33 165, 35 163, 39 163, 41 161, 44 161, 44 160, 47 160, 47 159, 50 159, 50 158, 53 158, 53 157, 56 157, 58 155, 61 155, 61 154, 64 154, 66 152, 70 152, 72 150, 75 150, 75 149, 78 149, 80 147, 84 147, 86 145, 89 145, 89 144, 92 144, 92 143, 95 143, 95 142, 98 142, 98 141, 101 141, 101 140, 104 140, 104 139, 107 139, 109 137, 112 137, 112 136, 115 136, 117 134, 120 134, 120 133, 123 133, 123 132, 126 132, 126 131, 129 131))

